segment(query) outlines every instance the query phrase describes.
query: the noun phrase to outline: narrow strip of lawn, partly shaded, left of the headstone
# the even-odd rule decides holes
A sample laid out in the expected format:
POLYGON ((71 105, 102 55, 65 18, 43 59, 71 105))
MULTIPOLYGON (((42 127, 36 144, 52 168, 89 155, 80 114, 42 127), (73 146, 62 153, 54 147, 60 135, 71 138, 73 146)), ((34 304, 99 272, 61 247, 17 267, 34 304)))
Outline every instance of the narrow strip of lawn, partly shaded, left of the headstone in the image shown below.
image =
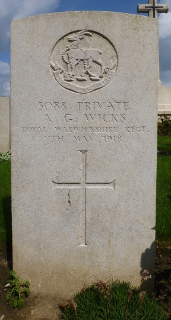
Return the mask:
POLYGON ((0 241, 11 241, 11 161, 0 161, 0 241))

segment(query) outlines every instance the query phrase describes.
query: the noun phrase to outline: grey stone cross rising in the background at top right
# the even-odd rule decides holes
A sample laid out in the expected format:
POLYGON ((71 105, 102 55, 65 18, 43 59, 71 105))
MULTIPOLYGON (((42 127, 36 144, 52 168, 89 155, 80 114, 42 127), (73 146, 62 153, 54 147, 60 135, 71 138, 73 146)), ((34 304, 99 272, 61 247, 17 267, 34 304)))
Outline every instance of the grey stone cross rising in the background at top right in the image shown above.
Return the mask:
POLYGON ((148 4, 139 4, 137 12, 148 13, 149 17, 157 18, 158 13, 168 13, 169 6, 167 4, 157 4, 157 0, 149 0, 148 4))

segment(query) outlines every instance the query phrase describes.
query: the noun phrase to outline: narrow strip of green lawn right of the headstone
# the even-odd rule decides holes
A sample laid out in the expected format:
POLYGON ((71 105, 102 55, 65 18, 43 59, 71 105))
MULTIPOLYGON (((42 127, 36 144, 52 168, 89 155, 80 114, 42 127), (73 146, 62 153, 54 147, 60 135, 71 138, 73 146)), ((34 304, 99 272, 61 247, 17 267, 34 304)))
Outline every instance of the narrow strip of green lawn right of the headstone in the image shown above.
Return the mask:
POLYGON ((171 240, 171 156, 157 157, 156 239, 171 240))

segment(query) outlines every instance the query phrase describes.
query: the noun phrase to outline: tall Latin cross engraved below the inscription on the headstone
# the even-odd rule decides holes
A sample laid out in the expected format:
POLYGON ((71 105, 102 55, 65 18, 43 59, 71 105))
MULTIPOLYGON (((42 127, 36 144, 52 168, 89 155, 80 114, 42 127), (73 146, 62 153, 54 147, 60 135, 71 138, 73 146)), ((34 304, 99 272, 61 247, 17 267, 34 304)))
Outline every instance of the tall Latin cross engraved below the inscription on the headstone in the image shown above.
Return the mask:
POLYGON ((79 150, 81 153, 81 179, 80 182, 57 182, 52 180, 58 189, 80 189, 81 192, 81 208, 80 208, 80 246, 87 246, 87 235, 86 235, 86 190, 89 188, 111 188, 115 190, 115 180, 112 182, 87 182, 86 178, 86 167, 87 167, 87 152, 88 150, 79 150))

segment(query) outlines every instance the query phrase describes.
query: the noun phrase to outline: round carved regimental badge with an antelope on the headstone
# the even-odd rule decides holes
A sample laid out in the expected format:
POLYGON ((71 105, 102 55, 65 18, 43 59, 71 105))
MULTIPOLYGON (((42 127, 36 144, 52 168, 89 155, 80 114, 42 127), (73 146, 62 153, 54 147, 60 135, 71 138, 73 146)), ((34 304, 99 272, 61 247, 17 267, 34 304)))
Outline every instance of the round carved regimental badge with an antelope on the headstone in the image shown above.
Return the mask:
POLYGON ((62 37, 54 46, 50 67, 64 88, 87 93, 104 87, 118 66, 113 44, 102 34, 81 30, 62 37))

